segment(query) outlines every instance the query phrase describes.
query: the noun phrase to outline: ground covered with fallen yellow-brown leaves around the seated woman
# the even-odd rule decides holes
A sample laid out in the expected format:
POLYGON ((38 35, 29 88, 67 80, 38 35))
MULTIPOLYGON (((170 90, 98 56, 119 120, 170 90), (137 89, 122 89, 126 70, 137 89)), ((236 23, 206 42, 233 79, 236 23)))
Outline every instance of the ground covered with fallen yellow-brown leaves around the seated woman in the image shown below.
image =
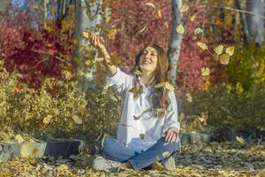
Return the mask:
POLYGON ((173 172, 161 169, 95 172, 90 167, 93 158, 88 154, 70 159, 14 158, 0 163, 0 176, 264 176, 265 139, 183 145, 173 172))

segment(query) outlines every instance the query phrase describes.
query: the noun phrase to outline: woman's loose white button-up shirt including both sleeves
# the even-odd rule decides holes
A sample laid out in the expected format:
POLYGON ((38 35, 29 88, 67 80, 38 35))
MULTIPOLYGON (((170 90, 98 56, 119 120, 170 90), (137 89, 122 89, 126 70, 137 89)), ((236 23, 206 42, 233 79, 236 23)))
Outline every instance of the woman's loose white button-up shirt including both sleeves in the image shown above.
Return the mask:
POLYGON ((173 91, 169 92, 170 105, 165 116, 159 118, 152 109, 151 95, 155 90, 154 86, 146 87, 140 81, 143 92, 134 99, 133 92, 129 91, 133 88, 132 75, 117 68, 117 73, 107 77, 107 81, 117 89, 125 101, 117 128, 117 140, 129 149, 137 152, 148 150, 170 127, 177 127, 179 130, 178 106, 173 91))

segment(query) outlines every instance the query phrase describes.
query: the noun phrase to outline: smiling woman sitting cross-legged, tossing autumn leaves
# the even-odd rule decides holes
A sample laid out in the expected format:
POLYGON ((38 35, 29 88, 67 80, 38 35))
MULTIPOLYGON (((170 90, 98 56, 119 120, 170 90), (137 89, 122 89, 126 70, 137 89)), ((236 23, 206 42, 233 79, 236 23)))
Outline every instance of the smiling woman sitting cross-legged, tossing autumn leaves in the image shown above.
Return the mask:
POLYGON ((157 161, 165 168, 174 168, 172 157, 180 147, 178 106, 174 92, 163 87, 170 74, 166 53, 160 46, 149 44, 136 56, 129 75, 110 64, 110 55, 98 36, 91 34, 90 42, 104 57, 107 81, 125 101, 117 139, 104 138, 102 156, 95 158, 93 167, 104 171, 119 167, 140 170, 157 161))

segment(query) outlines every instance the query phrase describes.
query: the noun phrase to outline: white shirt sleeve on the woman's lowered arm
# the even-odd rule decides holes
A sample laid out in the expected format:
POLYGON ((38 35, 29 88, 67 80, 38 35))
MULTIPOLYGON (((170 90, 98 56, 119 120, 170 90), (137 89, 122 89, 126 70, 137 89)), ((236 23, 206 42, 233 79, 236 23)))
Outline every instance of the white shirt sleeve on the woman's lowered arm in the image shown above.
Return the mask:
POLYGON ((170 106, 168 112, 165 115, 163 133, 168 131, 170 127, 173 127, 173 130, 177 133, 179 132, 180 124, 178 122, 178 104, 175 93, 173 91, 169 92, 170 106))

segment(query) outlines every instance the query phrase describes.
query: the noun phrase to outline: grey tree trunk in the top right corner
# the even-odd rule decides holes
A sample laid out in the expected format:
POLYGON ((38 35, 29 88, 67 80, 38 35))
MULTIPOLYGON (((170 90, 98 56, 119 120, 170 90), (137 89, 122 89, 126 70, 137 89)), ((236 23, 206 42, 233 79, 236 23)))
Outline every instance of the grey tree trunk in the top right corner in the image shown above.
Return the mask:
MULTIPOLYGON (((246 11, 264 15, 264 0, 246 0, 246 11)), ((256 42, 260 46, 263 41, 264 19, 258 15, 246 13, 246 24, 249 32, 247 42, 256 42)))

